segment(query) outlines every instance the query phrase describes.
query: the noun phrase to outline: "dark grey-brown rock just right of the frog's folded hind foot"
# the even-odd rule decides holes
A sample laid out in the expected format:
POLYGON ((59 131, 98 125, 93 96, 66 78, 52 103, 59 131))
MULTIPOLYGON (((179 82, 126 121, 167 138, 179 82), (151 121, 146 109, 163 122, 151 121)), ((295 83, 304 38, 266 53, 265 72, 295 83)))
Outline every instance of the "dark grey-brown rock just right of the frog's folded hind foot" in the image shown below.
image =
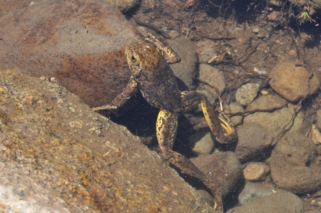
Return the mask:
POLYGON ((237 128, 239 141, 235 154, 241 163, 264 158, 276 143, 275 136, 258 123, 247 123, 237 128))

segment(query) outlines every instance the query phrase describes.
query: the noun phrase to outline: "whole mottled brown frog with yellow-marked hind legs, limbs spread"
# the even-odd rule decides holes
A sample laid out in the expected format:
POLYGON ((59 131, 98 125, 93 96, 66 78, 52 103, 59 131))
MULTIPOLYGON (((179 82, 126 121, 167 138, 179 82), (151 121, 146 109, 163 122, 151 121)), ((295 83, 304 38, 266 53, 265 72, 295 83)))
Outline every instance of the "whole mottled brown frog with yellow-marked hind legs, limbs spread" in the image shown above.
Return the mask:
POLYGON ((157 48, 144 41, 130 43, 126 46, 126 60, 132 71, 127 88, 110 104, 93 108, 93 110, 117 109, 132 97, 137 88, 139 88, 148 103, 160 108, 156 122, 156 135, 163 157, 183 172, 199 178, 213 192, 214 208, 222 213, 221 192, 217 190, 214 180, 202 173, 189 159, 172 151, 172 147, 176 138, 180 113, 191 110, 199 103, 202 104, 203 112, 211 131, 220 143, 237 140, 235 125, 223 113, 216 112, 204 94, 196 91, 179 92, 169 63, 179 62, 180 57, 169 47, 163 46, 160 41, 156 38, 154 39, 150 41, 157 48), (168 59, 162 56, 163 52, 169 55, 168 59))

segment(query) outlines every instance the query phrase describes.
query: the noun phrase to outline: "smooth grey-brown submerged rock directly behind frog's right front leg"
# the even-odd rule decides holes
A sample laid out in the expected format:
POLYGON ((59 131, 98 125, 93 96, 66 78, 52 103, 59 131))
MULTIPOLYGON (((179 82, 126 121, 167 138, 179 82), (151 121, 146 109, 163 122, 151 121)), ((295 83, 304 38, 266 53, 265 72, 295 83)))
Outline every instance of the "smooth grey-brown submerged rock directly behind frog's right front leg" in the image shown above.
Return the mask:
POLYGON ((195 89, 193 81, 197 75, 196 64, 198 62, 195 44, 189 38, 181 36, 175 38, 170 47, 182 58, 180 63, 170 64, 175 76, 185 84, 183 87, 178 81, 179 89, 195 89))

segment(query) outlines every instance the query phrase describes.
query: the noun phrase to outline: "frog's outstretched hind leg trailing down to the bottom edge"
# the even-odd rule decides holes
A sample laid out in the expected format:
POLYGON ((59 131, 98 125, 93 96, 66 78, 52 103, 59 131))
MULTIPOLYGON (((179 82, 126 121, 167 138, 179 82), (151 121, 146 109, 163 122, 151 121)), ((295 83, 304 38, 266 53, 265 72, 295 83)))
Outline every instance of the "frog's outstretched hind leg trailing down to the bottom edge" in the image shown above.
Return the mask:
POLYGON ((178 113, 160 110, 156 122, 156 136, 164 159, 176 166, 184 173, 200 179, 211 190, 215 200, 214 209, 223 213, 221 192, 207 175, 201 172, 189 159, 172 150, 178 126, 178 113))

